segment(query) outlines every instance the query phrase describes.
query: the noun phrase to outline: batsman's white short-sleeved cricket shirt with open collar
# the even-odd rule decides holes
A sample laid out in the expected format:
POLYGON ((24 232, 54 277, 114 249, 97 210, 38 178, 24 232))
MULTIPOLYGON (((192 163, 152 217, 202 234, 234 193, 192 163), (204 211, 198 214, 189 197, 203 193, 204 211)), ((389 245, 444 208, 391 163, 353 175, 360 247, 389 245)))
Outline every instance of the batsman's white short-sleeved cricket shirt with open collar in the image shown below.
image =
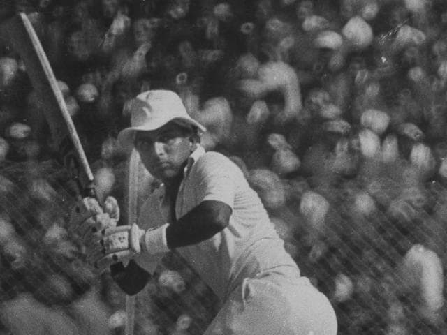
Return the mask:
MULTIPOLYGON (((228 227, 210 239, 176 250, 221 300, 244 278, 281 265, 297 268, 240 168, 226 156, 205 153, 199 146, 184 169, 175 215, 181 218, 203 200, 221 201, 233 209, 228 227)), ((138 225, 148 229, 172 222, 162 185, 143 204, 138 225)), ((152 273, 162 256, 139 256, 136 261, 152 273)))

